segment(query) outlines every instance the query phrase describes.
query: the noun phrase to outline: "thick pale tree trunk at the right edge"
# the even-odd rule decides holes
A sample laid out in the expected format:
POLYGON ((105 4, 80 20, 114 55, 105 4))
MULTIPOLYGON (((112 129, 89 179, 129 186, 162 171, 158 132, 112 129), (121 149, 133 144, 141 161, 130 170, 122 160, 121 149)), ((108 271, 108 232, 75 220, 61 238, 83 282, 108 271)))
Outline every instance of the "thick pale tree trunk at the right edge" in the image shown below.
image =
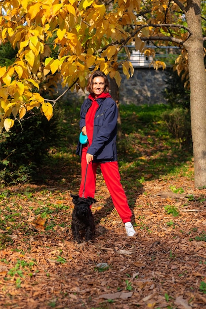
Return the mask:
POLYGON ((192 35, 184 43, 188 52, 191 128, 195 188, 206 187, 206 71, 201 27, 201 0, 188 0, 185 14, 192 35))

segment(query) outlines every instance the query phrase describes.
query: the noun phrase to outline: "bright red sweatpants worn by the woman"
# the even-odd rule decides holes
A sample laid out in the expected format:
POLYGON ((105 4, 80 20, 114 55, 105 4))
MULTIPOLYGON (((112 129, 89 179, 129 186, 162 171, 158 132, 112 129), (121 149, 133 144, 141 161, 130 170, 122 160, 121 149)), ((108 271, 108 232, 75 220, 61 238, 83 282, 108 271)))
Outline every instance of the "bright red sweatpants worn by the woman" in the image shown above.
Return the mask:
POLYGON ((96 170, 97 167, 100 165, 100 169, 104 177, 105 183, 111 194, 112 201, 114 203, 117 212, 120 215, 120 218, 123 220, 123 223, 130 222, 132 213, 128 206, 123 186, 120 182, 120 172, 118 162, 117 161, 105 162, 105 163, 90 162, 87 166, 86 152, 83 151, 81 165, 82 165, 82 182, 80 185, 79 195, 81 197, 83 195, 85 198, 88 196, 94 197, 96 188, 96 170), (86 181, 84 185, 85 173, 86 173, 86 181))

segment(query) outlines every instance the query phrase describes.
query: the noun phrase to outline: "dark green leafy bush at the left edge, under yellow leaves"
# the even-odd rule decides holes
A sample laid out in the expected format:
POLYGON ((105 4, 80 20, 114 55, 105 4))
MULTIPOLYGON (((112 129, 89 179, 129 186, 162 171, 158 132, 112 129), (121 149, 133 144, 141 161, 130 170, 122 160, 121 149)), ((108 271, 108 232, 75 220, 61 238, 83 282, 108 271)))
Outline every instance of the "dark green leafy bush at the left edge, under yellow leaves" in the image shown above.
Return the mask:
POLYGON ((15 121, 9 132, 0 135, 0 182, 14 184, 33 180, 41 168, 48 149, 58 139, 59 113, 48 121, 36 115, 15 121))

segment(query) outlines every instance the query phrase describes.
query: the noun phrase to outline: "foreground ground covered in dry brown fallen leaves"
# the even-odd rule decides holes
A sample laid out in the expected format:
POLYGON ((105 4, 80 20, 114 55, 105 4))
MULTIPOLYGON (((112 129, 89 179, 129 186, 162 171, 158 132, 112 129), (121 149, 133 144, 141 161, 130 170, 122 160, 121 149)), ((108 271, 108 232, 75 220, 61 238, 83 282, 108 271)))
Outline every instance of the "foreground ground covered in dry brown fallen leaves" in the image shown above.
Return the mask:
POLYGON ((70 228, 79 175, 1 192, 0 308, 204 308, 206 190, 183 176, 132 188, 127 237, 97 178, 96 238, 82 244, 70 228))

